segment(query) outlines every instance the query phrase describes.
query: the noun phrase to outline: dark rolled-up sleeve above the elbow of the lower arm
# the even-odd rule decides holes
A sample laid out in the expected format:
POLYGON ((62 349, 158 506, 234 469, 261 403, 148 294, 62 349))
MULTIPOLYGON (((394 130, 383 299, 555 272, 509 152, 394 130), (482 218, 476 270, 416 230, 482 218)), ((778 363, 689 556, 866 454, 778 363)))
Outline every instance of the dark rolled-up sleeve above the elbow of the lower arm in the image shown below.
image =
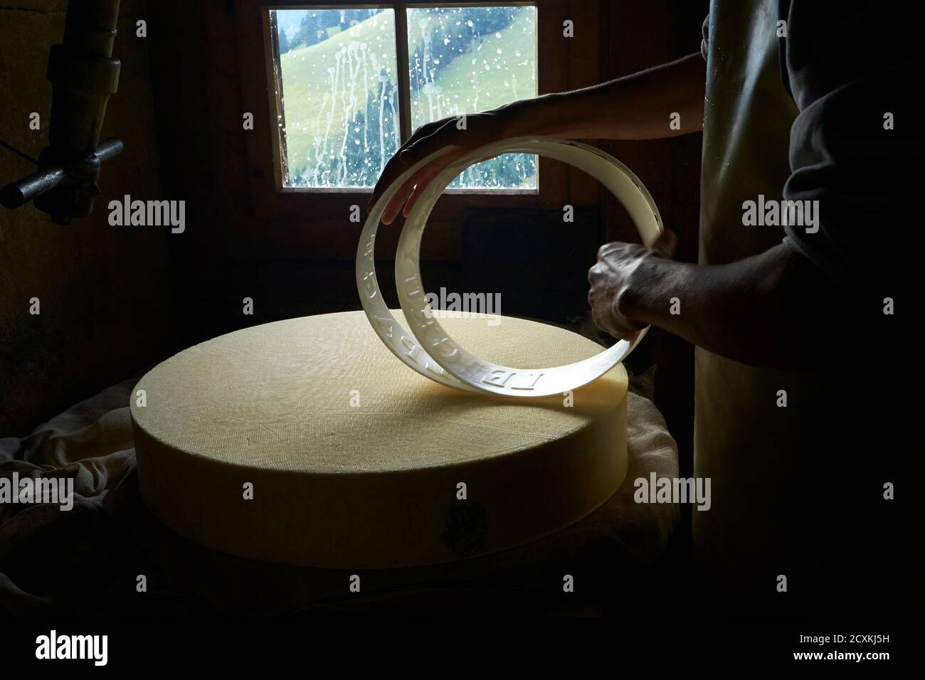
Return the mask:
POLYGON ((852 288, 888 287, 892 246, 922 227, 912 186, 925 162, 914 25, 882 4, 793 0, 788 12, 786 68, 800 113, 783 195, 818 213, 809 213, 816 224, 787 225, 784 241, 852 288))

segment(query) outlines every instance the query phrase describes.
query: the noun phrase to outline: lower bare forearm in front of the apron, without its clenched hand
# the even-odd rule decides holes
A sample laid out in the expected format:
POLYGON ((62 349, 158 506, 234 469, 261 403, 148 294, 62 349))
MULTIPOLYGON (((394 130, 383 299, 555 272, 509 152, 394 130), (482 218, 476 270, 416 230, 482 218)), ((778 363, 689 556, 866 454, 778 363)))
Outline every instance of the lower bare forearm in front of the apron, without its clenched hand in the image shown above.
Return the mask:
POLYGON ((645 258, 618 300, 621 314, 709 352, 748 365, 822 370, 850 352, 845 319, 859 318, 859 306, 784 244, 719 266, 645 258))

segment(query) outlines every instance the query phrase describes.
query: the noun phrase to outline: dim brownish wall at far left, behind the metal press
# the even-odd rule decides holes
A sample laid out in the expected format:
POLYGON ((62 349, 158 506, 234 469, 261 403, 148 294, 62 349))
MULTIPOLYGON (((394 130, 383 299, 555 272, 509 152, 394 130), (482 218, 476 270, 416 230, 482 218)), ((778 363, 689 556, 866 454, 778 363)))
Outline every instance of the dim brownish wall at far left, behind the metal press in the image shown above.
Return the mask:
MULTIPOLYGON (((37 157, 48 142, 48 50, 64 36, 67 0, 0 0, 0 140, 37 157), (40 130, 29 127, 40 114, 40 130)), ((122 61, 103 139, 125 152, 102 168, 93 215, 65 227, 27 204, 0 208, 0 437, 141 371, 174 347, 166 229, 112 227, 106 206, 126 193, 156 200, 161 167, 143 0, 122 0, 113 55, 122 61), (40 315, 30 314, 30 300, 40 315)), ((34 172, 0 149, 0 184, 34 172)), ((170 172, 170 167, 166 168, 170 172)))

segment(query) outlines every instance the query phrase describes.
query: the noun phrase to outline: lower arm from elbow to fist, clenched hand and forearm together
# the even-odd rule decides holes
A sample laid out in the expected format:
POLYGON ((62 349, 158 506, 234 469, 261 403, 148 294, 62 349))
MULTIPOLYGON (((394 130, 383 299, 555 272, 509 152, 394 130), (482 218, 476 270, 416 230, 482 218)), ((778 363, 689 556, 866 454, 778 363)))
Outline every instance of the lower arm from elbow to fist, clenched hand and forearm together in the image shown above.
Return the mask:
POLYGON ((608 243, 588 280, 594 321, 629 340, 647 325, 742 364, 844 372, 857 363, 845 323, 894 341, 882 296, 849 291, 792 245, 725 265, 674 262, 665 231, 651 248, 608 243))

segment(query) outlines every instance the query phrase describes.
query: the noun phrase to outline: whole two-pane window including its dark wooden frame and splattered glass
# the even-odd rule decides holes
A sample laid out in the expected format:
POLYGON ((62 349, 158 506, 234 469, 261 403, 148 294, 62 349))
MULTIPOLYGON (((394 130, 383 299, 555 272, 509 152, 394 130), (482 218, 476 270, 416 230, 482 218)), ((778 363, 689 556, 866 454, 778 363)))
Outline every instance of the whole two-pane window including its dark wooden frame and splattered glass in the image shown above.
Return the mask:
MULTIPOLYGON (((580 0, 587 30, 580 33, 580 38, 568 38, 563 35, 562 27, 563 22, 573 19, 575 2, 577 0, 571 4, 569 0, 445 0, 442 3, 439 0, 367 0, 364 4, 364 0, 228 0, 228 4, 219 3, 216 6, 220 10, 209 9, 215 21, 233 31, 233 38, 229 38, 227 33, 216 33, 216 36, 210 37, 210 40, 226 47, 222 58, 210 67, 210 72, 215 74, 209 85, 210 106, 215 111, 226 112, 226 115, 238 121, 242 115, 253 115, 253 126, 243 134, 243 147, 237 145, 237 138, 230 136, 216 142, 213 147, 222 181, 234 186, 235 191, 243 192, 241 198, 246 201, 246 218, 232 215, 226 224, 230 251, 241 258, 269 257, 284 251, 294 258, 332 261, 355 259, 365 206, 379 175, 382 160, 388 161, 393 151, 388 144, 407 140, 415 126, 432 116, 455 115, 457 105, 462 113, 470 113, 515 98, 563 92, 598 82, 602 49, 600 38, 602 31, 608 30, 599 11, 605 5, 605 0, 580 0), (231 8, 230 12, 228 7, 231 8), (344 19, 342 23, 341 10, 344 19), (484 19, 497 20, 500 24, 489 24, 486 29, 471 19, 471 14, 470 19, 462 22, 466 29, 479 29, 480 39, 475 43, 475 65, 472 64, 472 39, 468 45, 459 45, 462 52, 450 53, 453 58, 445 62, 444 58, 448 57, 442 49, 446 47, 449 50, 452 40, 444 45, 444 39, 449 36, 444 34, 435 37, 440 35, 438 31, 441 30, 441 23, 444 30, 450 27, 450 22, 455 26, 458 20, 456 17, 462 10, 467 13, 481 10, 484 19), (321 26, 316 23, 314 28, 305 31, 304 35, 315 41, 306 45, 297 37, 297 33, 302 27, 302 19, 309 12, 331 13, 319 15, 315 20, 333 19, 328 19, 330 24, 321 26), (499 15, 492 16, 495 13, 499 15), (425 35, 431 41, 427 49, 431 51, 425 55, 420 19, 428 18, 430 21, 425 23, 424 28, 425 35), (354 20, 356 23, 351 25, 354 20), (353 125, 350 128, 344 125, 343 111, 337 117, 337 111, 330 104, 330 93, 327 108, 321 110, 327 92, 325 88, 314 100, 317 105, 308 103, 307 87, 302 94, 298 89, 293 90, 297 88, 295 83, 298 79, 287 80, 288 67, 302 65, 302 56, 306 56, 304 64, 308 64, 307 55, 314 54, 309 50, 313 46, 314 51, 321 49, 317 45, 327 39, 339 35, 339 42, 343 42, 344 34, 351 30, 369 31, 373 20, 376 21, 373 38, 367 36, 367 40, 356 41, 359 44, 353 46, 352 78, 358 81, 368 78, 370 81, 366 83, 367 90, 362 98, 354 86, 352 102, 357 109, 357 120, 362 120, 364 125, 353 125), (469 20, 473 22, 472 27, 468 25, 469 20), (368 23, 361 27, 364 21, 368 23), (516 33, 518 29, 522 32, 516 33), (500 39, 497 33, 501 34, 500 39), (383 36, 381 41, 375 40, 378 34, 383 36), (310 37, 312 35, 314 38, 310 37), (371 43, 388 43, 387 35, 391 36, 388 45, 390 49, 384 47, 382 52, 376 51, 376 62, 378 67, 392 70, 385 73, 381 70, 371 71, 371 43), (401 39, 399 36, 402 36, 401 39), (511 42, 497 43, 500 40, 511 42), (283 41, 285 43, 280 44, 283 41), (518 41, 522 44, 518 44, 518 41), (365 76, 364 61, 356 56, 357 48, 363 52, 364 42, 365 76), (479 44, 483 45, 480 51, 479 44), (537 49, 537 44, 542 45, 542 49, 537 49), (501 54, 498 53, 499 49, 501 54), (531 49, 532 52, 528 52, 531 49), (468 61, 459 61, 467 54, 468 61), (531 58, 527 59, 527 56, 531 58), (388 64, 385 63, 386 59, 388 64), (439 64, 433 63, 438 59, 439 64), (486 63, 482 59, 489 65, 493 76, 488 80, 489 70, 485 68, 486 63), (456 61, 459 63, 455 67, 451 66, 456 61), (482 87, 475 91, 475 83, 470 82, 475 80, 474 74, 468 78, 450 80, 450 75, 455 72, 453 69, 462 66, 469 68, 470 74, 474 66, 481 68, 478 82, 483 86, 486 83, 497 83, 498 87, 482 87), (359 76, 356 75, 358 69, 359 76), (501 75, 505 71, 511 73, 512 77, 501 75), (386 80, 385 83, 379 80, 380 75, 386 80), (291 86, 290 82, 293 83, 291 86), (429 88, 426 87, 428 83, 431 84, 429 88), (460 83, 465 92, 456 87, 460 83), (383 86, 389 92, 394 91, 394 99, 391 102, 383 99, 376 102, 374 107, 370 93, 373 93, 374 87, 381 92, 383 86), (456 94, 459 94, 458 98, 456 94), (299 105, 300 96, 306 97, 302 105, 299 105), (469 97, 469 101, 466 101, 466 97, 469 97), (368 117, 367 102, 370 103, 368 117), (383 109, 381 117, 379 104, 383 109), (394 117, 392 104, 395 105, 394 117), (314 150, 314 126, 318 122, 319 111, 321 119, 318 130, 327 132, 327 116, 330 114, 331 130, 339 126, 337 130, 340 135, 337 145, 327 141, 327 165, 322 167, 318 167, 317 163, 321 155, 314 150), (372 126, 366 125, 366 120, 370 120, 372 126), (367 144, 371 140, 378 142, 380 121, 385 144, 361 158, 356 152, 357 147, 365 149, 364 131, 367 144), (355 130, 357 127, 360 130, 355 130), (347 137, 347 144, 344 144, 345 132, 356 135, 352 139, 347 137), (304 135, 301 141, 299 135, 304 135), (357 138, 359 144, 356 143, 357 138), (299 151, 300 144, 302 152, 299 151), (342 163, 339 168, 337 161, 341 146, 344 146, 348 162, 342 163), (351 146, 353 148, 348 152, 351 146), (312 153, 312 165, 309 164, 309 151, 312 153), (334 155, 333 159, 331 155, 334 155), (367 157, 368 164, 364 162, 367 157), (311 181, 313 177, 317 178, 314 179, 314 186, 311 181), (300 183, 293 181, 295 179, 300 183)), ((204 6, 211 8, 214 4, 206 3, 204 6)), ((346 49, 340 56, 343 68, 344 60, 350 53, 351 42, 347 41, 343 45, 328 43, 328 46, 334 45, 338 50, 346 49)), ((347 70, 338 72, 337 50, 334 55, 327 57, 334 61, 323 69, 317 69, 315 75, 321 79, 330 79, 331 74, 327 68, 335 69, 334 75, 339 76, 338 81, 341 83, 337 104, 340 107, 344 105, 341 100, 343 96, 346 96, 347 103, 351 102, 350 89, 345 91, 342 85, 345 75, 351 77, 351 70, 348 61, 347 70)), ((332 83, 332 80, 327 80, 327 86, 333 92, 332 83)), ((352 120, 352 116, 347 118, 348 123, 352 120)), ((233 128, 239 126, 240 123, 237 123, 233 128)), ((231 134, 230 130, 232 128, 228 128, 228 135, 231 134)), ((333 139, 334 132, 329 134, 333 139)), ((324 148, 320 141, 319 148, 324 148)), ((458 179, 440 197, 428 220, 430 228, 427 229, 422 246, 422 259, 446 263, 459 261, 463 249, 463 225, 467 214, 474 209, 561 210, 564 204, 587 205, 598 202, 596 182, 588 182, 586 177, 572 172, 568 166, 551 158, 529 156, 518 159, 510 155, 492 161, 494 163, 474 166, 463 173, 462 179, 458 179), (502 163, 505 174, 492 168, 492 165, 500 166, 502 163), (491 172, 480 176, 482 167, 491 172)), ((376 238, 380 240, 381 252, 386 255, 394 247, 398 231, 385 229, 376 238)))

